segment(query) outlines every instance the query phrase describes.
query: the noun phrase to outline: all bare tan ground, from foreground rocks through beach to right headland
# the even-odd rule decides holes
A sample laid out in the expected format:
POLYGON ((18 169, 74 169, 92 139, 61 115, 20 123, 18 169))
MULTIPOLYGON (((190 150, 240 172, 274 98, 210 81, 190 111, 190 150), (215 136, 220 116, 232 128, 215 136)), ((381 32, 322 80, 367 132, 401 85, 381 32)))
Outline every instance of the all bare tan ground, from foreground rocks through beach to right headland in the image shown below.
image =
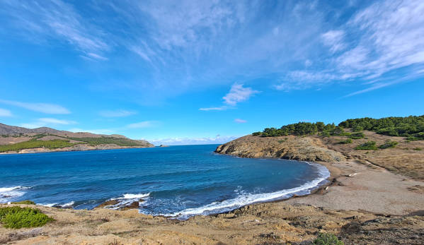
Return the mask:
MULTIPOLYGON (((331 171, 327 186, 287 201, 247 205, 230 213, 179 221, 137 210, 64 210, 38 206, 55 222, 0 228, 0 244, 311 244, 320 232, 345 244, 424 244, 422 141, 384 150, 355 145, 364 139, 319 136, 245 136, 217 148, 241 157, 318 161, 331 171)), ((21 205, 23 206, 23 205, 21 205)))

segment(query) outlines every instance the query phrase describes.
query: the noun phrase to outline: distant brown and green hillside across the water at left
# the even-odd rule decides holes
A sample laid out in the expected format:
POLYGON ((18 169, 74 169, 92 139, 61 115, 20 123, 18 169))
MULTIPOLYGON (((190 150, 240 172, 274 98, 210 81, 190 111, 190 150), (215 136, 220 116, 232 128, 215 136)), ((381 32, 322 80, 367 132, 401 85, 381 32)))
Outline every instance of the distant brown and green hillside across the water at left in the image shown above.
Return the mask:
POLYGON ((73 133, 47 127, 26 129, 0 124, 0 153, 42 153, 153 146, 147 141, 132 140, 116 134, 73 133))

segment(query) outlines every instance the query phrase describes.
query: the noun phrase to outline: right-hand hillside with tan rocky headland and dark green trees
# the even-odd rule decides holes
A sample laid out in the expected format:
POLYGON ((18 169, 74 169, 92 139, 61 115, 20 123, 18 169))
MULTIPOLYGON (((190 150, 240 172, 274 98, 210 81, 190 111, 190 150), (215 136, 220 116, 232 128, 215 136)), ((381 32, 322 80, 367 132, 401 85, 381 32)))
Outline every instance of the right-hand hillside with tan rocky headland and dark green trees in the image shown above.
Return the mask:
POLYGON ((216 153, 322 162, 350 160, 424 180, 423 134, 424 116, 349 119, 338 126, 301 122, 237 138, 219 145, 216 153))

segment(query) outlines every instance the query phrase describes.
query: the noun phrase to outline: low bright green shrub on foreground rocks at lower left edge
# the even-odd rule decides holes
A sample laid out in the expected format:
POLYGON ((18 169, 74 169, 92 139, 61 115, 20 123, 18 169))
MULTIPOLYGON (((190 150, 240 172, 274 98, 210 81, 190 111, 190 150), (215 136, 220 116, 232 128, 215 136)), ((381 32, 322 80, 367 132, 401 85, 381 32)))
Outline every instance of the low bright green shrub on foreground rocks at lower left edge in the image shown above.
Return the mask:
POLYGON ((6 228, 40 227, 52 221, 40 210, 35 208, 6 207, 0 208, 0 222, 6 228))

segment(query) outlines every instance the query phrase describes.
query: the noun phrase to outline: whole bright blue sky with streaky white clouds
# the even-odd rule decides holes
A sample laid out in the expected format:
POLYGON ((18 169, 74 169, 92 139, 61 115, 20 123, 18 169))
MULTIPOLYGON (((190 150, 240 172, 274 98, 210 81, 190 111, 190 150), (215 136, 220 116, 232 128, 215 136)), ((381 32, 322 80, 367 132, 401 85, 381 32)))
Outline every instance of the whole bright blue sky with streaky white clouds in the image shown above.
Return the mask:
POLYGON ((0 1, 0 122, 224 143, 424 114, 424 1, 0 1))

